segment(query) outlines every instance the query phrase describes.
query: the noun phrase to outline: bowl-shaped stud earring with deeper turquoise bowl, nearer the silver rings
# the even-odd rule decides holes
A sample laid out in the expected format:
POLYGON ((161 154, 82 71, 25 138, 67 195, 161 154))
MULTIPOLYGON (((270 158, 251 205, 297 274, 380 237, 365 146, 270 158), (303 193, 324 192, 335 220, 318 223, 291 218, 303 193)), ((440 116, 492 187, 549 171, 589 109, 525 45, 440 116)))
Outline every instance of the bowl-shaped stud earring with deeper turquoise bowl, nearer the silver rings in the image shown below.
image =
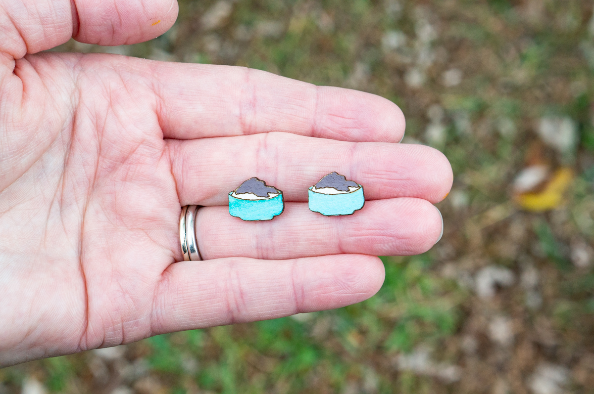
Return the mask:
POLYGON ((284 210, 283 192, 257 177, 229 193, 229 214, 242 220, 272 220, 284 210))

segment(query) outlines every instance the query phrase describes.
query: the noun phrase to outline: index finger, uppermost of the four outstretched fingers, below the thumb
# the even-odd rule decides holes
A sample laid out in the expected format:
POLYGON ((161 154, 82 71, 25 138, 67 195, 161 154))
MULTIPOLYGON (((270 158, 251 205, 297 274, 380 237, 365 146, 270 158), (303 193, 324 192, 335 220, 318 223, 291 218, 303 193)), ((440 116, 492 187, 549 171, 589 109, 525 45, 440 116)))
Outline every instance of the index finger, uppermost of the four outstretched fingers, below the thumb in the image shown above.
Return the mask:
POLYGON ((237 66, 150 63, 166 138, 272 131, 341 141, 399 142, 405 117, 390 100, 237 66))

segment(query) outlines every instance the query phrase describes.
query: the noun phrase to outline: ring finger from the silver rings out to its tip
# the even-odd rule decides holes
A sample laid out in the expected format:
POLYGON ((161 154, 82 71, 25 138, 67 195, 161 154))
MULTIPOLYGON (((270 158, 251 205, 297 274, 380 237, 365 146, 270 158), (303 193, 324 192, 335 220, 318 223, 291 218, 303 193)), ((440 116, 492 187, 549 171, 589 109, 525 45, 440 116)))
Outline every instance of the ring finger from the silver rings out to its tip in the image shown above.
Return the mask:
POLYGON ((223 206, 204 206, 196 218, 204 259, 414 255, 430 249, 442 230, 437 208, 418 198, 368 201, 361 211, 340 217, 324 217, 309 211, 307 204, 288 203, 283 214, 270 221, 242 221, 223 206))

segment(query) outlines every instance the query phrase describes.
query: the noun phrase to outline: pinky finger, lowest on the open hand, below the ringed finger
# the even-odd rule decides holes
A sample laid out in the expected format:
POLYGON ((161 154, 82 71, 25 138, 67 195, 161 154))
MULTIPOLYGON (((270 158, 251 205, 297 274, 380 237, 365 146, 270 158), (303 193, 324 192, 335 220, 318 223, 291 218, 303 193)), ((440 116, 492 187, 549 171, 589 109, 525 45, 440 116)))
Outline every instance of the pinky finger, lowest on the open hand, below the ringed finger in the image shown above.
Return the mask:
POLYGON ((343 307, 371 297, 383 281, 381 260, 366 255, 179 262, 157 288, 153 333, 343 307))

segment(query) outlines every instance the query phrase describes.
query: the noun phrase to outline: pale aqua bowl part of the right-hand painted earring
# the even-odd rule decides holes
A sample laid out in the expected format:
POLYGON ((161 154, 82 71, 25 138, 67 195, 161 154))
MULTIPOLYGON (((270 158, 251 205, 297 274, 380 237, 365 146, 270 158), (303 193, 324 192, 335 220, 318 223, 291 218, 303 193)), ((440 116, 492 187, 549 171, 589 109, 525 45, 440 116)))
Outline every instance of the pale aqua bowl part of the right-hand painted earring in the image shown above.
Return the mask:
POLYGON ((324 194, 308 189, 309 210, 325 216, 352 215, 365 205, 363 186, 349 193, 324 194))

